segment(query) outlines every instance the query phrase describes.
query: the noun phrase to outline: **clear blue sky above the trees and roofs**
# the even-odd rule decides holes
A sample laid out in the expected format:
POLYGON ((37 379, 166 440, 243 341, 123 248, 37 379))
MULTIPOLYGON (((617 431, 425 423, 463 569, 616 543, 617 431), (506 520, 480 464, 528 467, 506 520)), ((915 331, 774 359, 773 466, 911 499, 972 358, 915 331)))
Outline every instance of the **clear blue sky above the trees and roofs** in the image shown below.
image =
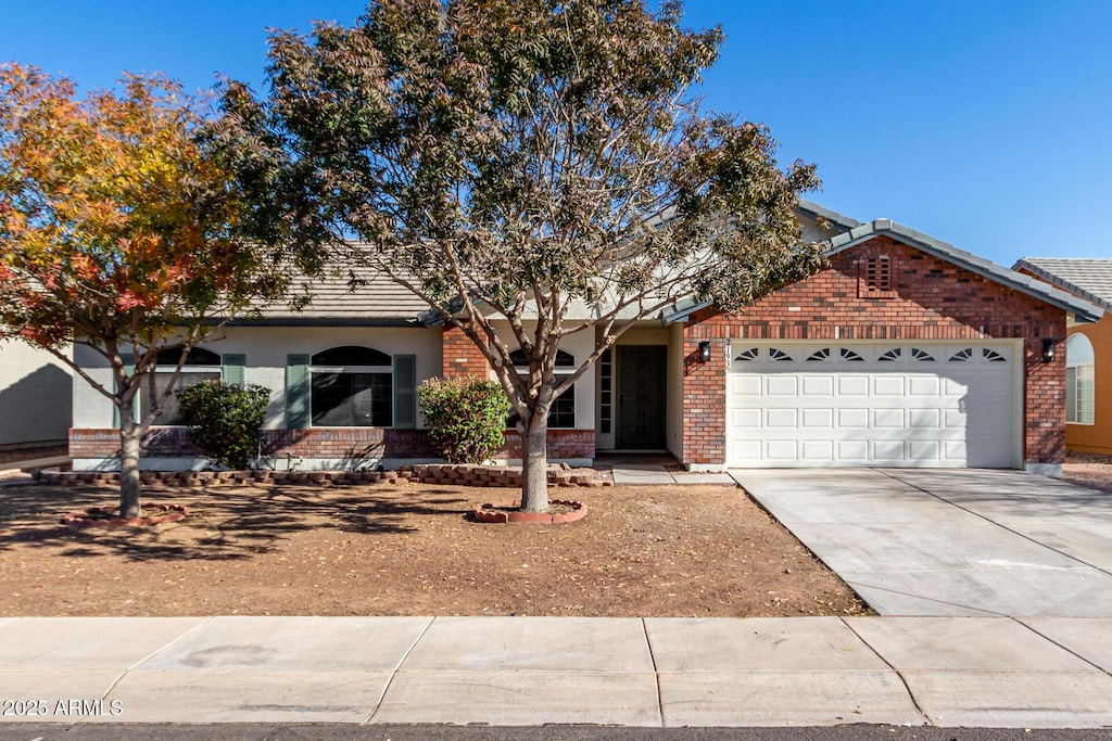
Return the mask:
MULTIPOLYGON (((122 70, 259 89, 268 27, 353 22, 355 0, 8 0, 0 60, 111 87, 122 70)), ((706 104, 767 123, 811 198, 994 262, 1112 257, 1112 2, 688 0, 726 43, 706 104)))

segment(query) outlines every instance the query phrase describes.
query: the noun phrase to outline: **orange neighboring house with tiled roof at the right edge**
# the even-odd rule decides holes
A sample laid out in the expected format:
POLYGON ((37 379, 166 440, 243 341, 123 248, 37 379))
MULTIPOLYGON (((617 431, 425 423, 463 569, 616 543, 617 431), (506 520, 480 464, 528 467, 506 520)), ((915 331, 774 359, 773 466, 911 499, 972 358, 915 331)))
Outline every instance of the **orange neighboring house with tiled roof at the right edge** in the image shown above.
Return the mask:
MULTIPOLYGON (((1112 259, 1023 258, 1013 269, 1112 312, 1112 259)), ((1112 455, 1112 314, 1068 332, 1065 447, 1112 455)))

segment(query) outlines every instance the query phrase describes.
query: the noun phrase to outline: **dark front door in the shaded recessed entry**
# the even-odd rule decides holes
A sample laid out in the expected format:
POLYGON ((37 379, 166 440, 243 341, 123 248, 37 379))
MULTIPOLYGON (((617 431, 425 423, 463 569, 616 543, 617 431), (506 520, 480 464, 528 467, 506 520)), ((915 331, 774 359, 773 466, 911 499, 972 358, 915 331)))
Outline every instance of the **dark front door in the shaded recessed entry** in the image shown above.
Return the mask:
POLYGON ((668 349, 663 344, 617 348, 619 450, 664 450, 668 349))

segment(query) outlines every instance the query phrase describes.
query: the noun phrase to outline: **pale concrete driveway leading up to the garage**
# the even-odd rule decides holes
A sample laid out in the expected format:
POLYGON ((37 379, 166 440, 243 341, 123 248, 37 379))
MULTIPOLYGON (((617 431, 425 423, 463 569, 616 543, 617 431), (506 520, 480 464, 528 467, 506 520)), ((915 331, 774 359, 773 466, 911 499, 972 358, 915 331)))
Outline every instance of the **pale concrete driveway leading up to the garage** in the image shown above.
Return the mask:
POLYGON ((731 474, 882 615, 1112 617, 1112 495, 1017 471, 731 474))

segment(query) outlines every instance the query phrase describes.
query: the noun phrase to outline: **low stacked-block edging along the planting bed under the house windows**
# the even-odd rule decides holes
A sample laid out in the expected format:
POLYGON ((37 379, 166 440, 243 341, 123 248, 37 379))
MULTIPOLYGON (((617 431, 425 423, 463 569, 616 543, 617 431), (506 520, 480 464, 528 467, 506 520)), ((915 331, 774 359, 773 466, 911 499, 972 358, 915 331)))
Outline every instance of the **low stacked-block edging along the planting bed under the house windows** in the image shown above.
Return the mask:
MULTIPOLYGON (((42 471, 39 481, 60 487, 117 483, 115 471, 42 471)), ((266 484, 433 483, 456 487, 522 487, 522 469, 506 465, 429 463, 403 465, 397 471, 142 471, 143 484, 167 487, 266 484)), ((549 467, 552 487, 612 487, 614 482, 594 469, 549 467)))

